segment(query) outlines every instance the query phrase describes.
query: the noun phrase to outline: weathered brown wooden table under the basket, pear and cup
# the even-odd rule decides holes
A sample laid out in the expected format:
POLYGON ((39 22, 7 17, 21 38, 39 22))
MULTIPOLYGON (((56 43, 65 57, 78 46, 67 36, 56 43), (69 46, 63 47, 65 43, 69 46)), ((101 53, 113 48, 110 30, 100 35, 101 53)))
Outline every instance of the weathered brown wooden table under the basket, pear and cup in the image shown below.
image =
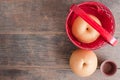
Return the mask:
MULTIPOLYGON (((70 5, 83 1, 87 0, 0 0, 0 80, 119 80, 119 43, 95 50, 99 63, 117 63, 112 77, 103 76, 98 67, 92 76, 81 78, 69 67, 76 47, 66 35, 65 19, 70 5)), ((120 0, 100 2, 113 12, 119 40, 120 0)))

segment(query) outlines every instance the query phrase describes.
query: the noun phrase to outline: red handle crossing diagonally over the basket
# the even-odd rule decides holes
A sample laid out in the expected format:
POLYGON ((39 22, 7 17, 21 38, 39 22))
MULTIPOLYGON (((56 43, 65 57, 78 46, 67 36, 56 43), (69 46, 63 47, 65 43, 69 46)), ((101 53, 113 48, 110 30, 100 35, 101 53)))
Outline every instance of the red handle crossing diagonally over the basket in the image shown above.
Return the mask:
POLYGON ((89 25, 91 25, 95 30, 97 30, 109 44, 115 46, 118 43, 116 38, 114 38, 108 31, 106 31, 102 26, 100 26, 91 17, 89 17, 87 13, 80 7, 74 4, 71 6, 70 11, 73 11, 75 14, 84 19, 89 25))

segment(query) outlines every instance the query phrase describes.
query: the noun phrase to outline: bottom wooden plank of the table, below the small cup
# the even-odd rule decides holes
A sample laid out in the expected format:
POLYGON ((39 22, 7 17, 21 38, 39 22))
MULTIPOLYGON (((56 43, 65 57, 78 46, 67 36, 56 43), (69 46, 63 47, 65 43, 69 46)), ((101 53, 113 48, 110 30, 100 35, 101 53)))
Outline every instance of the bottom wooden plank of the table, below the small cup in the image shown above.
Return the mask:
POLYGON ((0 70, 0 80, 119 80, 120 70, 112 77, 106 77, 100 70, 86 78, 81 78, 70 69, 3 69, 0 70))

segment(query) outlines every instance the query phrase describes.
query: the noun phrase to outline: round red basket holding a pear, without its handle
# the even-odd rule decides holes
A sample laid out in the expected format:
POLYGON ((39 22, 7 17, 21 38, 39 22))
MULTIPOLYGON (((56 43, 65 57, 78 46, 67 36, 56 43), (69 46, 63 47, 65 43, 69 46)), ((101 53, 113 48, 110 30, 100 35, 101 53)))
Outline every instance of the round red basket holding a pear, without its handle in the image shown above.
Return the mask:
MULTIPOLYGON (((78 6, 86 13, 96 16, 101 21, 102 27, 111 35, 114 34, 115 20, 111 11, 105 5, 100 2, 90 1, 78 4, 78 6)), ((66 32, 72 43, 81 49, 88 50, 94 50, 102 47, 106 43, 102 36, 92 43, 82 43, 73 36, 71 29, 76 17, 77 15, 70 11, 66 19, 66 32)))

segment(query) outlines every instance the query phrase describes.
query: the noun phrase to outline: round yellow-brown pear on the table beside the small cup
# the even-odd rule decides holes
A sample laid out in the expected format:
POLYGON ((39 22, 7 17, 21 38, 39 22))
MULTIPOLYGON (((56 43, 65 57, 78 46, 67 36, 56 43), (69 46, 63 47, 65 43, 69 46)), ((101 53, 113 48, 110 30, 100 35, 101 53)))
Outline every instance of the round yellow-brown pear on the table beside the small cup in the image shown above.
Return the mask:
POLYGON ((98 64, 97 56, 90 50, 75 50, 69 61, 72 71, 81 77, 92 75, 98 64))

